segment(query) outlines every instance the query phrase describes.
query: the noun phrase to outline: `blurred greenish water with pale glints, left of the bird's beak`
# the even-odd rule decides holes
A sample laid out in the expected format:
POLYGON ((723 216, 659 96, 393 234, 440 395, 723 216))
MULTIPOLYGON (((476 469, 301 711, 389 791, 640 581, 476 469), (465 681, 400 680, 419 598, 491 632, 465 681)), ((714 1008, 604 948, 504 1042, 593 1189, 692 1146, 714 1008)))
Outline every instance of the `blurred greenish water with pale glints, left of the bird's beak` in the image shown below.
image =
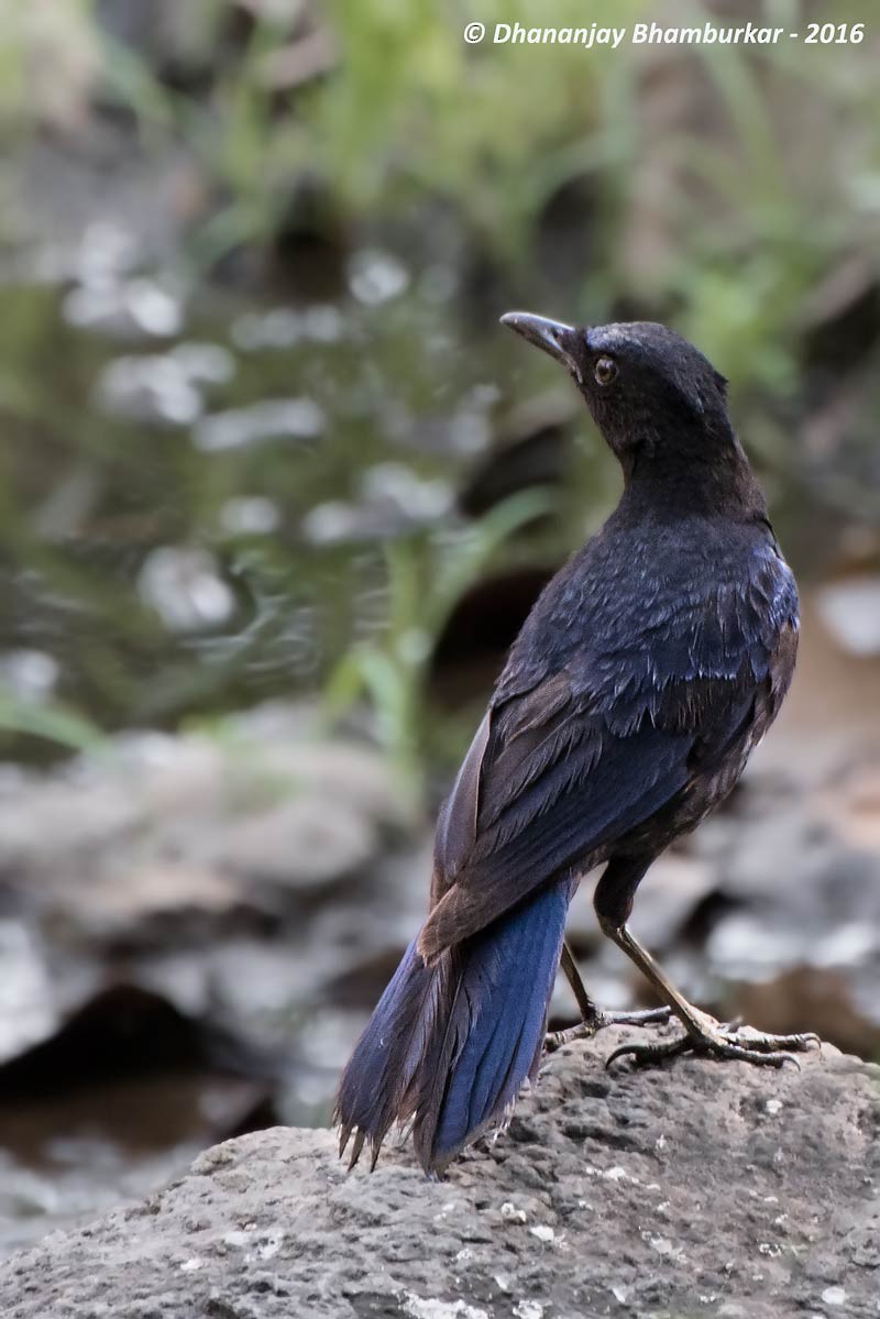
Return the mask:
MULTIPOLYGON (((453 276, 391 253, 268 305, 131 260, 91 231, 65 284, 7 285, 0 324, 4 708, 102 729, 319 686, 383 625, 383 542, 454 524, 499 412, 553 369, 522 353, 512 380, 453 276)), ((7 757, 53 753, 0 723, 7 757)))

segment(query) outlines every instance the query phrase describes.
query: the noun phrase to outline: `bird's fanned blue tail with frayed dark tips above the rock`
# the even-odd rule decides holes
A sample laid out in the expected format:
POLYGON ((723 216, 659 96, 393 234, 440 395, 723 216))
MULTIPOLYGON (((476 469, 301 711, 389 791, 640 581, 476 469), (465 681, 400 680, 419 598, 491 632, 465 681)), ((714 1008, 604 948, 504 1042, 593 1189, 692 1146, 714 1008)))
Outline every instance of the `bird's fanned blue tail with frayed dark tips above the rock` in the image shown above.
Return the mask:
POLYGON ((413 939, 343 1074, 335 1120, 351 1165, 373 1166, 394 1122, 413 1124, 426 1171, 442 1171, 505 1116, 541 1057, 573 885, 541 889, 426 966, 413 939))

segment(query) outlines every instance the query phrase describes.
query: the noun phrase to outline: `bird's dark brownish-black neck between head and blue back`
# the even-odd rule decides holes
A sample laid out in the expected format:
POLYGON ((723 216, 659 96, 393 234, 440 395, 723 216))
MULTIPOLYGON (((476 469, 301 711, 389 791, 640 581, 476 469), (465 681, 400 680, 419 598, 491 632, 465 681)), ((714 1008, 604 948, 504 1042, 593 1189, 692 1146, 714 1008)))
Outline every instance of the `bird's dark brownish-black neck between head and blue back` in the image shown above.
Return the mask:
POLYGON ((761 517, 767 505, 730 422, 693 437, 653 435, 623 463, 621 506, 633 514, 761 517))

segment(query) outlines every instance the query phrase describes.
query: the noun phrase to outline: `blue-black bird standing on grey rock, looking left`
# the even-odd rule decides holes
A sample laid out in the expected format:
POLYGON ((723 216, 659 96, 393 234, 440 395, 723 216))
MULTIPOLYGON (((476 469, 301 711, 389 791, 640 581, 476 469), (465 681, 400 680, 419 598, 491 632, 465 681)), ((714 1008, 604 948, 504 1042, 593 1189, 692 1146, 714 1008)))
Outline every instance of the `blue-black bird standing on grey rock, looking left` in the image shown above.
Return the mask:
MULTIPOLYGON (((731 791, 794 669, 798 600, 727 415, 726 381, 661 324, 503 323, 574 377, 623 468, 620 503, 544 590, 437 827, 430 914, 343 1074, 340 1153, 373 1165, 393 1122, 442 1171, 508 1116, 541 1058, 557 968, 581 1033, 602 1013, 563 943, 581 876, 599 925, 685 1028, 685 1049, 781 1066, 813 1035, 731 1029, 691 1006, 627 927, 652 861, 731 791)), ((569 1033, 570 1034, 570 1033, 569 1033)), ((612 1055, 616 1057, 616 1055, 612 1055)))

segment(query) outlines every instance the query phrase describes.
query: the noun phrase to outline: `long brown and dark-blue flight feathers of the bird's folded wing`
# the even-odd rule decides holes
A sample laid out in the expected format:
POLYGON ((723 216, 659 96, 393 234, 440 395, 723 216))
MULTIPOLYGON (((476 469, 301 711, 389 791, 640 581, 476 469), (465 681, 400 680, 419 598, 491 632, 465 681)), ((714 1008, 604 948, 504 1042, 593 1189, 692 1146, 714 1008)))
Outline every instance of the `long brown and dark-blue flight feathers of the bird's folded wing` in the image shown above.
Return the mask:
POLYGON ((693 735, 608 731, 558 674, 486 716, 441 815, 431 959, 641 823, 687 782, 693 735))

